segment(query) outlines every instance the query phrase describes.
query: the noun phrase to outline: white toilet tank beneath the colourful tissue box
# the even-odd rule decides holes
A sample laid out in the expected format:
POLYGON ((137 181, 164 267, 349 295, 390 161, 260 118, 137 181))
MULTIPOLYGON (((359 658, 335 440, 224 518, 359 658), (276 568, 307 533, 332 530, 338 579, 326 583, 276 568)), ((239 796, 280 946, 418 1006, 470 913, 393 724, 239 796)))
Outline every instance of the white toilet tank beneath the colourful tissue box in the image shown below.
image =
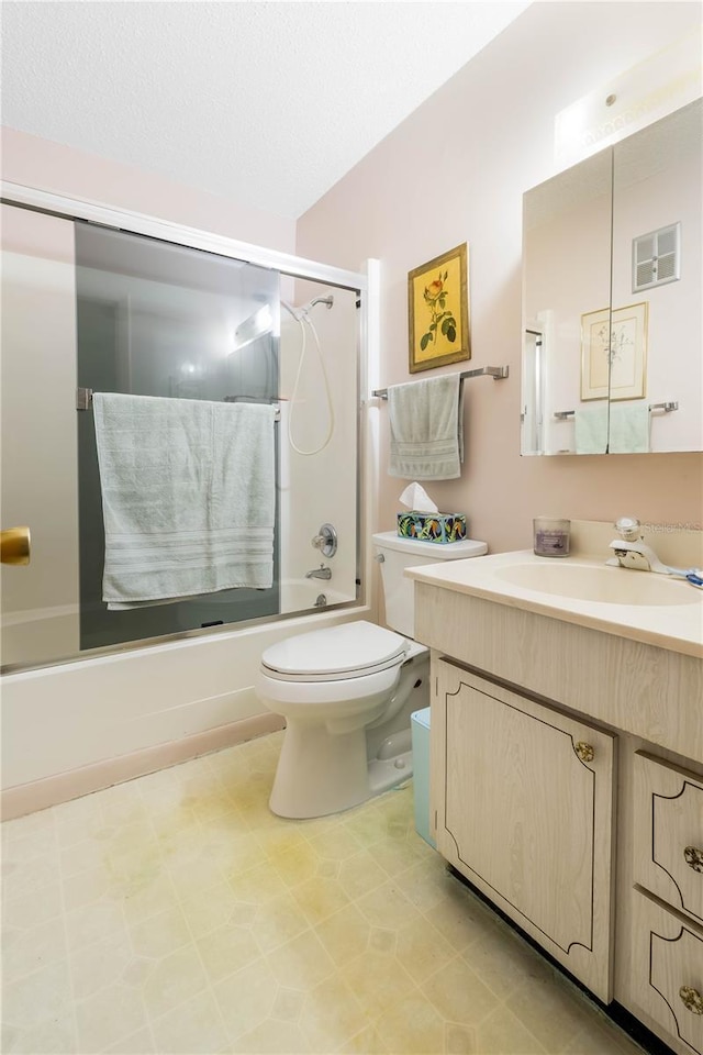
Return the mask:
POLYGON ((403 575, 405 568, 437 564, 439 560, 466 560, 467 557, 480 557, 488 553, 487 544, 473 538, 442 545, 400 538, 394 531, 382 531, 372 535, 372 541, 376 558, 381 562, 386 623, 405 637, 412 637, 415 632, 414 582, 403 575))

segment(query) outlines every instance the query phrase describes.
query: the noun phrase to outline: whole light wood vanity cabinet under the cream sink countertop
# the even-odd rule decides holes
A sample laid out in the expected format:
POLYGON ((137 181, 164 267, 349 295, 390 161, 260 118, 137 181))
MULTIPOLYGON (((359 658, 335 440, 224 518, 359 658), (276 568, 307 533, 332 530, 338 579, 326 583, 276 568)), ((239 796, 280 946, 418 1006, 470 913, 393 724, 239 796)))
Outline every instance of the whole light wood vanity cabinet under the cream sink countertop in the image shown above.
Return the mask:
POLYGON ((604 1002, 703 1055, 701 658, 422 580, 415 637, 439 852, 604 1002))

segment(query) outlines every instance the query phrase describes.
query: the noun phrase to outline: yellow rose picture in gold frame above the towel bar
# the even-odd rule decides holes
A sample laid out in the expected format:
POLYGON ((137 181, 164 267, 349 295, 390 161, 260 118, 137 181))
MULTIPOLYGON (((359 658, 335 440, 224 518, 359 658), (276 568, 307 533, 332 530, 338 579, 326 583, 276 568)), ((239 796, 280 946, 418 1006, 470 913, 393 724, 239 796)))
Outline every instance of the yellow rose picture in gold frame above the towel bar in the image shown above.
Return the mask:
POLYGON ((410 373, 471 358, 468 245, 408 273, 410 373))

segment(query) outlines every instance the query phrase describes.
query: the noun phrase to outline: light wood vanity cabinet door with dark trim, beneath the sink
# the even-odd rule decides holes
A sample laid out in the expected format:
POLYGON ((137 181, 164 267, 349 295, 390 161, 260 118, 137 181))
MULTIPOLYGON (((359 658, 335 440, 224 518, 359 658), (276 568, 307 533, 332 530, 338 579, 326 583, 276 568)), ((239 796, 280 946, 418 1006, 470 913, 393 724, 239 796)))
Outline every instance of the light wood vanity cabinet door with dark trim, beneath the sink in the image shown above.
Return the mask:
POLYGON ((610 1001, 614 737, 448 660, 434 674, 438 849, 610 1001))

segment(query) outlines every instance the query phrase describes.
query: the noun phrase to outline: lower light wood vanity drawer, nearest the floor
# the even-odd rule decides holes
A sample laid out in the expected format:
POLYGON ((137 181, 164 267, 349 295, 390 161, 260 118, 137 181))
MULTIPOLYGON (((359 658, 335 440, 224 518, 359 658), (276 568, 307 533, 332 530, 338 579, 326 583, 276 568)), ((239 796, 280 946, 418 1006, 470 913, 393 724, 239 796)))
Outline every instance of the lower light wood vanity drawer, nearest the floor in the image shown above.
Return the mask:
POLYGON ((703 1055, 703 930, 645 891, 633 898, 634 999, 677 1052, 703 1055))

